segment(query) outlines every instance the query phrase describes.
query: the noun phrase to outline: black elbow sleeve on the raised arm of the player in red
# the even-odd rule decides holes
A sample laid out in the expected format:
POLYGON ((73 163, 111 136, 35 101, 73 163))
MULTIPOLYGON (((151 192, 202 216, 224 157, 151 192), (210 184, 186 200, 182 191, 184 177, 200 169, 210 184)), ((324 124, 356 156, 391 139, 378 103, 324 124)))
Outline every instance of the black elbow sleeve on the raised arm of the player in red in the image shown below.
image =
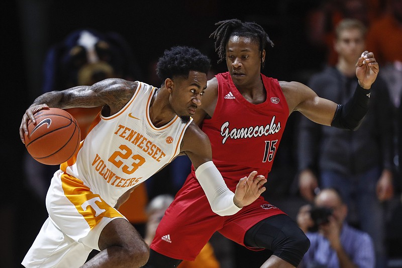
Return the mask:
POLYGON ((365 90, 357 83, 353 97, 345 104, 338 104, 331 126, 356 130, 359 128, 368 110, 370 90, 365 90))

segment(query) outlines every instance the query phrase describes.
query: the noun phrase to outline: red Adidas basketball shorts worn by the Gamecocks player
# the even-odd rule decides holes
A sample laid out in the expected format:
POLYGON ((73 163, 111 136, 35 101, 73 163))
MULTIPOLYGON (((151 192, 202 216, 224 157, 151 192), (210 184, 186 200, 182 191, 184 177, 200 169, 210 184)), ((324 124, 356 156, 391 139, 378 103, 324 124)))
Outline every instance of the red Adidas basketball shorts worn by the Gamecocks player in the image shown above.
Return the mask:
POLYGON ((204 190, 190 174, 159 223, 151 248, 171 258, 194 260, 216 231, 244 245, 248 229, 277 214, 285 213, 260 197, 235 215, 219 216, 211 210, 204 190))

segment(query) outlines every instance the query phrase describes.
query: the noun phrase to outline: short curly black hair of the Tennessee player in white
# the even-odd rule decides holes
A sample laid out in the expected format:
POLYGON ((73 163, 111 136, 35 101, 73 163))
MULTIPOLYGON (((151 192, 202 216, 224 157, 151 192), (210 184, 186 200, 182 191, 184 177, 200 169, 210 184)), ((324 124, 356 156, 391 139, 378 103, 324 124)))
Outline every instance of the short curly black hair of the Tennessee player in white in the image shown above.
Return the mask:
POLYGON ((188 78, 190 71, 208 73, 211 60, 199 50, 187 46, 166 49, 156 65, 156 73, 163 81, 181 76, 188 78))

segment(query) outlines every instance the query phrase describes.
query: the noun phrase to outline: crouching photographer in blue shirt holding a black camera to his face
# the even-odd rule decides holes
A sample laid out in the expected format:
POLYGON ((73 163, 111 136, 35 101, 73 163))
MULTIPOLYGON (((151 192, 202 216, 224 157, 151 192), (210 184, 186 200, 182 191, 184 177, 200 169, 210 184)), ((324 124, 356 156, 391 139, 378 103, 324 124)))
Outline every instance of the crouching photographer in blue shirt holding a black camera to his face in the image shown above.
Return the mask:
POLYGON ((345 221, 348 208, 340 193, 321 190, 314 206, 300 207, 297 224, 310 239, 310 249, 299 268, 373 268, 374 244, 371 237, 345 221))

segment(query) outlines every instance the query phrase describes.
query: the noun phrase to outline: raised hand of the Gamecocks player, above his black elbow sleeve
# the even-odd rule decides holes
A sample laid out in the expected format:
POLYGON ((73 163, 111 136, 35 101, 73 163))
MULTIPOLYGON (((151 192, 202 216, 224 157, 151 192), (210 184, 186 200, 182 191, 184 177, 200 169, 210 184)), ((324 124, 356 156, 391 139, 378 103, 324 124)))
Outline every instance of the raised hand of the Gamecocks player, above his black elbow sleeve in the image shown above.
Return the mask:
POLYGON ((378 71, 378 62, 373 52, 364 51, 356 63, 356 77, 360 86, 368 90, 377 78, 378 71))

